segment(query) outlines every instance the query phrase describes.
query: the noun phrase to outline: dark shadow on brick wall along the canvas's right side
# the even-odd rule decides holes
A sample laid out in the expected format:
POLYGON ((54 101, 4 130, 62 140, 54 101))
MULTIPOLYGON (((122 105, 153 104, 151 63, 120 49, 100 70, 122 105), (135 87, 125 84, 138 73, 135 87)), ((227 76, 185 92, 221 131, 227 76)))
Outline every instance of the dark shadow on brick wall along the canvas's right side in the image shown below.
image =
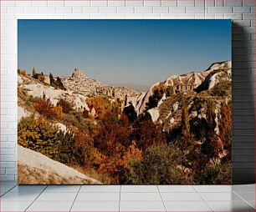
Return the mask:
POLYGON ((255 62, 250 60, 248 34, 242 26, 232 26, 233 67, 233 184, 255 183, 255 110, 254 73, 255 62))

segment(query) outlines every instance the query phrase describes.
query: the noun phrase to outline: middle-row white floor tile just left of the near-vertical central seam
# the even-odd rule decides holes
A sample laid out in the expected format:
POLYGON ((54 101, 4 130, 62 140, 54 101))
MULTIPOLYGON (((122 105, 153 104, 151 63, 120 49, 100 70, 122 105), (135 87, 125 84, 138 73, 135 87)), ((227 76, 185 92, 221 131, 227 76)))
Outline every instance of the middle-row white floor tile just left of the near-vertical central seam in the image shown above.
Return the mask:
POLYGON ((90 201, 119 201, 119 193, 79 193, 75 199, 77 202, 90 201))

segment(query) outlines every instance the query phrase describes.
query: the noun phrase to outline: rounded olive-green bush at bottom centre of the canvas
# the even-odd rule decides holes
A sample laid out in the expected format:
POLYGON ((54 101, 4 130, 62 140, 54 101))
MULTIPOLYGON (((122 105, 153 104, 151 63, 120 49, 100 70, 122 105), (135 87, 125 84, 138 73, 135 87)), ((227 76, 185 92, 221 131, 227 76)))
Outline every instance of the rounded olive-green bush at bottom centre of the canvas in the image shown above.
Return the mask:
POLYGON ((182 153, 174 146, 149 147, 141 160, 131 159, 126 184, 192 184, 192 177, 178 168, 182 153))

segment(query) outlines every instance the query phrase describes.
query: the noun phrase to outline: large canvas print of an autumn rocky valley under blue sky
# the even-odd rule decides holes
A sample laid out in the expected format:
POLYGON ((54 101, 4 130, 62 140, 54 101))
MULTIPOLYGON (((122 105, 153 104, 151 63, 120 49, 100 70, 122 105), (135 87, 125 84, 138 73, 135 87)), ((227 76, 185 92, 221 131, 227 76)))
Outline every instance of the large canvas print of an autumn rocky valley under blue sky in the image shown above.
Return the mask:
POLYGON ((230 20, 18 20, 18 184, 231 184, 230 20))

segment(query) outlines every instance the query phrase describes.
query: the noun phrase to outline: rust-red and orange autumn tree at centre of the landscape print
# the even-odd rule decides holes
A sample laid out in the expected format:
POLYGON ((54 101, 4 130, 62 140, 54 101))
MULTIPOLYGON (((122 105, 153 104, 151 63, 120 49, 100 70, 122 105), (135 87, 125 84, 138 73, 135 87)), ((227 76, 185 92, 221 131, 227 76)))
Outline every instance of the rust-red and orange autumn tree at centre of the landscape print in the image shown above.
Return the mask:
POLYGON ((114 113, 106 113, 99 133, 95 136, 95 147, 100 149, 102 159, 100 171, 118 177, 128 168, 129 159, 141 159, 141 150, 131 140, 132 127, 125 115, 120 119, 114 113))

